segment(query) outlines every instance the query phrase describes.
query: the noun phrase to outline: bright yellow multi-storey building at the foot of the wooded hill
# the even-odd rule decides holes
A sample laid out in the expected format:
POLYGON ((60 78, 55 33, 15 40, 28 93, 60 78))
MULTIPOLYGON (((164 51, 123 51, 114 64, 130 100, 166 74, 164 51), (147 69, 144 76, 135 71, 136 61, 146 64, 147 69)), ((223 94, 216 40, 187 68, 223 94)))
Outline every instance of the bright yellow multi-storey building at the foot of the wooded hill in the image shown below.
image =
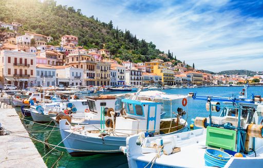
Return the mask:
POLYGON ((162 85, 174 85, 174 71, 171 70, 162 60, 155 59, 152 62, 145 62, 145 66, 151 68, 151 73, 162 76, 162 85))

